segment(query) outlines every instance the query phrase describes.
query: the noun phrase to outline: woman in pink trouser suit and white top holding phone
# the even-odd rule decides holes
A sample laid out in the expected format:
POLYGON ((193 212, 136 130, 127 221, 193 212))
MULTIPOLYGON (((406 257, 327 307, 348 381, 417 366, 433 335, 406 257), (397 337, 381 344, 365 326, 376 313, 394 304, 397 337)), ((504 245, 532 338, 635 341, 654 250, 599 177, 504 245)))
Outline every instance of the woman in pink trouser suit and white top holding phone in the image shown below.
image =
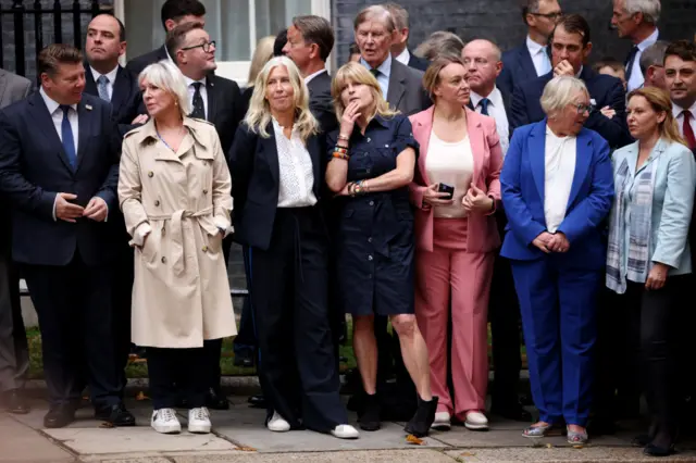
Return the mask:
POLYGON ((493 213, 500 201, 502 152, 495 121, 467 108, 467 70, 458 57, 436 59, 423 85, 435 104, 410 117, 421 146, 411 200, 417 208, 415 316, 427 345, 433 395, 439 397, 433 427, 449 429, 453 414, 469 429, 487 429, 486 324, 500 246, 493 213), (447 386, 448 341, 453 401, 447 386))

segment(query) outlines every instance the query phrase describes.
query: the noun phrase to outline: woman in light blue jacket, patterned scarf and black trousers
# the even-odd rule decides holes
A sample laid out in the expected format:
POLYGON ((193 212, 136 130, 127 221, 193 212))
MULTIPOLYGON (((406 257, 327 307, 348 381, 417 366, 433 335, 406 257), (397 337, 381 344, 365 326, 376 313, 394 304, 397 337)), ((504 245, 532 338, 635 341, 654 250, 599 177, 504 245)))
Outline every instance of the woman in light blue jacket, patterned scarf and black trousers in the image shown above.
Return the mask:
MULTIPOLYGON (((631 373, 639 370, 651 415, 635 443, 666 456, 676 438, 672 323, 692 273, 688 227, 696 163, 672 115, 669 95, 655 87, 629 93, 632 145, 613 153, 617 196, 607 253, 610 308, 627 322, 631 373), (637 362, 639 360, 639 368, 637 362)), ((636 378, 637 379, 637 378, 636 378)))

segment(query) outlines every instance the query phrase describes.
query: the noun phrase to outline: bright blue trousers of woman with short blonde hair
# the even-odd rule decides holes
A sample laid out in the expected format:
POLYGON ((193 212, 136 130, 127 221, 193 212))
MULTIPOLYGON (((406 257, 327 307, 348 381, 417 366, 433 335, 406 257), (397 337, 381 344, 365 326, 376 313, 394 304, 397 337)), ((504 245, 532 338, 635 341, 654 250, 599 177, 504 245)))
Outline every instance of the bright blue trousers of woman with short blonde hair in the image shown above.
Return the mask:
POLYGON ((604 272, 573 267, 563 254, 511 263, 539 420, 586 426, 604 272))

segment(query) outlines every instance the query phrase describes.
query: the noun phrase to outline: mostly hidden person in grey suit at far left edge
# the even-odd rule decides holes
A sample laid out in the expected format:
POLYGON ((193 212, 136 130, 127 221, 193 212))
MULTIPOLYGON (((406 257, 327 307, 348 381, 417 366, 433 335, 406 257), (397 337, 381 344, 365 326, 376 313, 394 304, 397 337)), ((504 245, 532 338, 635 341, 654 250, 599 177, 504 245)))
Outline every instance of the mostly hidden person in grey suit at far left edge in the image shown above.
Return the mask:
MULTIPOLYGON (((0 109, 25 99, 32 91, 29 79, 0 70, 0 109)), ((29 371, 29 350, 26 342, 20 276, 12 262, 12 224, 10 208, 0 198, 0 403, 10 413, 24 414, 29 406, 22 392, 29 371)))

